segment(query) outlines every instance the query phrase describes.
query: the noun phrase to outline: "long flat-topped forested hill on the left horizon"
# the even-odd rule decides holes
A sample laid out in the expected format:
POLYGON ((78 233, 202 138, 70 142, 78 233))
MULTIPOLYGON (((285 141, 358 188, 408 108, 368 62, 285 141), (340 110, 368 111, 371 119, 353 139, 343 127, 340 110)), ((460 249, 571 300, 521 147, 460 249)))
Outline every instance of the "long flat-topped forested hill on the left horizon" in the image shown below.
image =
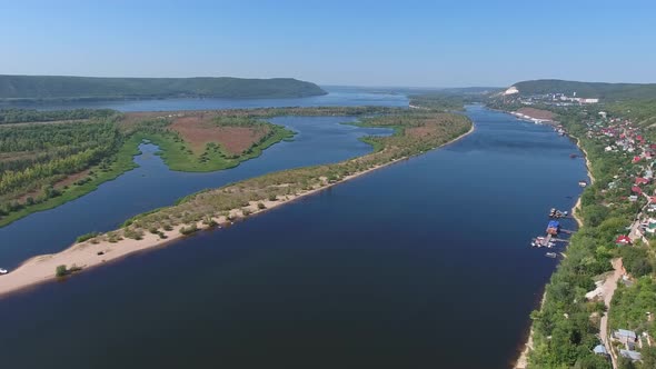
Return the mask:
POLYGON ((0 74, 0 100, 300 98, 326 93, 315 83, 292 78, 100 78, 0 74))

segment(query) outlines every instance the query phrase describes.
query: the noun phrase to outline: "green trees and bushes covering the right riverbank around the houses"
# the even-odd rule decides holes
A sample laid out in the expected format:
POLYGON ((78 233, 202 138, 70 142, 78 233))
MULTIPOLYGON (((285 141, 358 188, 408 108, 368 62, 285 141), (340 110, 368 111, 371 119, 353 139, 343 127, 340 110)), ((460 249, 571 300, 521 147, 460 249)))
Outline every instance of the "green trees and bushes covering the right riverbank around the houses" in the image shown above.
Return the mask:
MULTIPOLYGON (((627 226, 646 205, 643 197, 634 202, 627 200, 635 178, 644 173, 645 167, 632 163, 634 153, 606 151, 617 138, 600 133, 609 120, 599 119, 597 112, 605 108, 608 107, 551 108, 586 150, 595 182, 585 189, 577 211, 584 227, 571 237, 567 258, 551 276, 543 308, 531 313, 535 348, 529 355, 531 368, 610 368, 608 360, 592 351, 599 343, 600 317, 606 308, 603 302, 587 300, 585 293, 594 290, 594 282, 612 270, 610 260, 615 258, 623 259, 636 281, 633 286, 619 282, 610 305, 609 330, 622 328, 656 335, 656 327, 646 315, 656 311, 654 248, 639 239, 633 246, 615 245, 617 236, 627 233, 627 226)), ((620 119, 614 124, 624 124, 627 118, 615 117, 620 119)), ((646 134, 652 133, 646 131, 646 134)), ((655 189, 654 183, 643 186, 645 193, 655 189)), ((647 236, 647 239, 653 238, 647 236)), ((645 358, 642 363, 622 359, 619 368, 654 368, 656 348, 640 351, 645 358)))

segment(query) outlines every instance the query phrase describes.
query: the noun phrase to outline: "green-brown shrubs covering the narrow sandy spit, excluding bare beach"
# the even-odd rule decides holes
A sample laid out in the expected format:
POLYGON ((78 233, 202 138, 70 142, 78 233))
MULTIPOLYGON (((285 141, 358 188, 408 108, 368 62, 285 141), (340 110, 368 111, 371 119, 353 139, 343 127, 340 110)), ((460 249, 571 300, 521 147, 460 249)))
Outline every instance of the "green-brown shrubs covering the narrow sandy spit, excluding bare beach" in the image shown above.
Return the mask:
MULTIPOLYGON (((248 179, 222 188, 201 191, 179 200, 175 206, 137 216, 125 223, 126 237, 149 229, 172 229, 182 226, 183 235, 197 230, 198 222, 231 219, 230 210, 242 217, 261 210, 264 201, 285 199, 328 186, 350 174, 439 147, 466 133, 471 122, 464 116, 438 111, 399 110, 395 114, 366 118, 365 124, 397 128, 390 137, 370 137, 378 149, 367 156, 334 164, 285 170, 248 179)), ((103 238, 106 236, 100 236, 103 238)))

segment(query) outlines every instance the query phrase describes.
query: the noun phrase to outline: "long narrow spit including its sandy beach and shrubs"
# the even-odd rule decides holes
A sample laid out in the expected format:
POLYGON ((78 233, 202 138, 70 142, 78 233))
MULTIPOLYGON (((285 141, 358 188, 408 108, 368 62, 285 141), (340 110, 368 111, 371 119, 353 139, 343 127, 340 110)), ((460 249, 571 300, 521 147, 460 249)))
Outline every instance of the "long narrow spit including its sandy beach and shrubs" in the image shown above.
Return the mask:
MULTIPOLYGON (((0 295, 62 278, 137 251, 161 247, 202 229, 230 227, 256 213, 438 148, 474 130, 471 121, 463 114, 430 108, 387 109, 387 113, 362 117, 358 123, 392 128, 395 131, 389 137, 364 138, 374 148, 369 154, 331 164, 284 170, 201 191, 173 206, 129 219, 115 231, 82 235, 70 248, 54 255, 34 257, 3 276, 0 295)), ((321 110, 325 112, 326 109, 321 110)), ((254 114, 252 111, 245 113, 254 114)), ((271 112, 255 112, 267 113, 271 112)), ((192 117, 198 114, 203 113, 192 113, 192 117)), ((235 112, 230 111, 216 114, 231 114, 231 119, 236 119, 235 112)))

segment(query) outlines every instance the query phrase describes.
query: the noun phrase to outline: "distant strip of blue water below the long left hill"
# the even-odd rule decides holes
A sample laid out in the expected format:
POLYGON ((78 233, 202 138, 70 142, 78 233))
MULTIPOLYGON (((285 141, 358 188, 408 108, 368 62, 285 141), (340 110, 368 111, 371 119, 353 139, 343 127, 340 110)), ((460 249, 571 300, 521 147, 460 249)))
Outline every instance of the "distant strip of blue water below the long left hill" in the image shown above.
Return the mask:
POLYGON ((371 93, 362 89, 325 87, 328 94, 288 99, 150 99, 150 100, 103 100, 72 102, 26 102, 11 107, 39 110, 63 109, 115 109, 119 111, 170 111, 211 110, 238 108, 280 108, 280 107, 356 107, 386 106, 408 107, 405 94, 371 93))

